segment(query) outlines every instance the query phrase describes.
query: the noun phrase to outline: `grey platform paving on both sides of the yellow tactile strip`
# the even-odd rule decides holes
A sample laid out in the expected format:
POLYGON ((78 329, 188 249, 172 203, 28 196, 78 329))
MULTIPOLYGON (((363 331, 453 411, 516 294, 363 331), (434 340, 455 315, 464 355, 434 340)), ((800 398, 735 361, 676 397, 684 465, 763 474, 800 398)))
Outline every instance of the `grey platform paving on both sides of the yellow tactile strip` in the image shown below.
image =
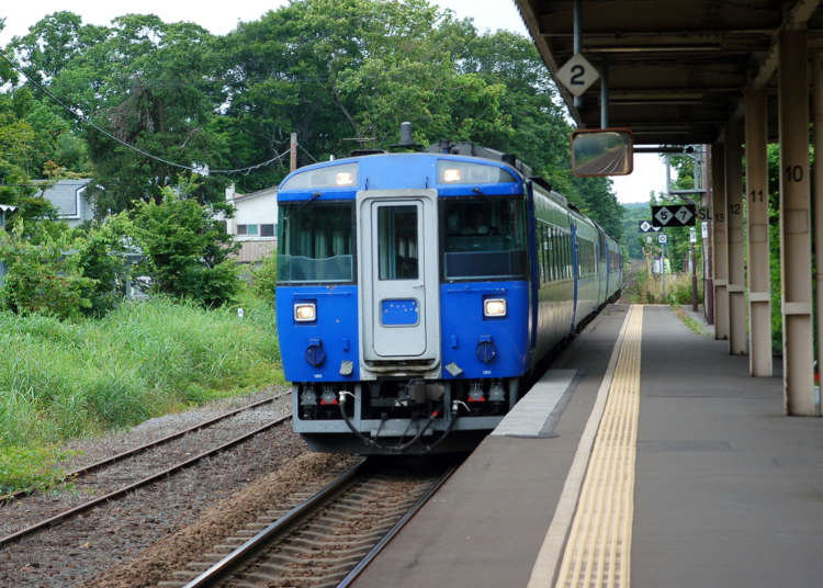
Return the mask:
MULTIPOLYGON (((554 363, 576 375, 540 433, 487 437, 354 586, 529 584, 627 310, 554 363)), ((631 586, 823 586, 823 420, 783 416, 779 373, 645 306, 634 450, 631 586)))

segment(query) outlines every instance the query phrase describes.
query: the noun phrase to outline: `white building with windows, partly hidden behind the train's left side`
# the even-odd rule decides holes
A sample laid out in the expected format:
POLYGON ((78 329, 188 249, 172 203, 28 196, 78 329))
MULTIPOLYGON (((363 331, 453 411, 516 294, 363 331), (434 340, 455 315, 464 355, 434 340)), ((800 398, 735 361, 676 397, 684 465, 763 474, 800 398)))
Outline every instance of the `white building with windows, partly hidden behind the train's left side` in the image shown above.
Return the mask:
POLYGON ((232 184, 226 188, 226 202, 235 207, 226 230, 241 244, 238 261, 253 263, 273 253, 278 246, 277 186, 240 194, 232 184))

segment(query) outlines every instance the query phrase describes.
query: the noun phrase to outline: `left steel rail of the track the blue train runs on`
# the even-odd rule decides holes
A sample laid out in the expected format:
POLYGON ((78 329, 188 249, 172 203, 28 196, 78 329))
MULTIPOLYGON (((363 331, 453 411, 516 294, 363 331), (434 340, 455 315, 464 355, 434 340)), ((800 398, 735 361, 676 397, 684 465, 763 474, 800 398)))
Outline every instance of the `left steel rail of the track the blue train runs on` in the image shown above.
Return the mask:
POLYGON ((263 546, 270 543, 274 538, 291 529, 296 522, 304 519, 308 513, 313 512, 314 509, 325 502, 330 496, 337 493, 342 486, 348 484, 354 476, 359 475, 370 463, 369 459, 363 459, 342 475, 331 482, 322 490, 314 494, 311 498, 304 502, 297 505, 289 512, 283 514, 280 519, 268 525, 266 529, 260 531, 258 534, 249 539, 246 543, 234 550, 232 553, 223 557, 219 562, 214 564, 212 567, 203 572, 200 576, 191 580, 183 588, 204 588, 206 586, 213 586, 216 581, 222 579, 226 574, 229 574, 233 569, 239 566, 243 562, 257 554, 263 546))

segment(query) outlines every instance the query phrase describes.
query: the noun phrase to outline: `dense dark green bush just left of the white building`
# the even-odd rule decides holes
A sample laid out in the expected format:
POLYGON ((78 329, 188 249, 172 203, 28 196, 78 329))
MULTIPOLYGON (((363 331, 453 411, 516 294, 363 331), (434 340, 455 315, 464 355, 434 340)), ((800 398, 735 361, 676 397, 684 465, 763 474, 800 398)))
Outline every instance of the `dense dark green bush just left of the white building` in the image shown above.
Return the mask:
POLYGON ((151 289, 189 297, 206 306, 229 302, 239 290, 237 267, 228 256, 232 244, 214 211, 185 197, 194 180, 180 180, 180 193, 164 188, 162 202, 140 202, 135 211, 135 236, 145 255, 138 272, 151 279, 151 289))

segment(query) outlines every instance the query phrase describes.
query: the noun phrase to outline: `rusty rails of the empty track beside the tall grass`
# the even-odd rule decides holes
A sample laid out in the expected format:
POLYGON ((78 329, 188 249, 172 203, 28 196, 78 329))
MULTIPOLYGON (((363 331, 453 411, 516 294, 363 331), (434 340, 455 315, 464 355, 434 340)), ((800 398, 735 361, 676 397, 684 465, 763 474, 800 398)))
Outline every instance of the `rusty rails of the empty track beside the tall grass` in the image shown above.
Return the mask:
MULTIPOLYGON (((198 462, 206 457, 216 455, 217 453, 226 451, 239 443, 243 443, 244 441, 248 439, 251 439, 252 437, 257 434, 260 434, 273 427, 277 427, 278 425, 281 425, 282 422, 291 418, 291 409, 290 409, 291 405, 289 404, 290 396, 291 396, 291 393, 283 393, 277 396, 272 396, 270 398, 264 398, 262 400, 251 403, 249 405, 236 408, 234 410, 223 412, 222 415, 218 415, 217 417, 199 422, 198 425, 193 427, 189 427, 184 430, 166 436, 161 439, 157 439, 149 443, 145 443, 140 446, 131 449, 128 451, 119 453, 116 455, 106 457, 104 460, 98 461, 95 463, 92 463, 90 465, 80 467, 78 470, 75 470, 68 473, 66 475, 66 479, 71 479, 76 485, 82 486, 84 490, 89 493, 94 493, 97 494, 97 496, 93 499, 87 500, 84 502, 81 502, 80 505, 75 506, 74 508, 59 511, 57 513, 43 518, 38 520, 37 522, 25 524, 24 527, 18 529, 16 531, 10 534, 7 534, 5 536, 1 536, 0 549, 9 544, 12 544, 25 536, 32 535, 38 531, 42 531, 44 529, 58 524, 65 520, 74 518, 80 513, 87 512, 101 504, 125 496, 126 494, 134 491, 137 488, 147 486, 151 483, 166 478, 167 476, 173 475, 176 472, 180 472, 184 468, 191 467, 195 465, 198 462), (109 467, 113 467, 116 465, 126 465, 128 460, 136 459, 139 455, 148 454, 153 450, 157 450, 158 448, 162 448, 176 441, 183 440, 187 438, 187 436, 192 436, 201 431, 207 430, 210 428, 214 428, 218 423, 225 423, 229 419, 239 417, 244 414, 248 414, 266 405, 275 404, 279 402, 280 403, 284 402, 284 404, 289 407, 288 414, 281 417, 278 417, 269 422, 266 422, 262 426, 255 427, 251 430, 247 430, 243 434, 235 436, 228 440, 221 439, 219 441, 212 443, 212 446, 210 449, 200 451, 199 453, 194 455, 192 455, 191 452, 185 451, 183 448, 177 453, 185 455, 185 457, 180 461, 177 461, 176 463, 171 465, 158 468, 156 464, 153 464, 150 472, 146 472, 145 470, 142 470, 140 467, 134 468, 135 472, 129 472, 131 468, 121 467, 121 472, 119 472, 114 476, 111 476, 112 479, 103 479, 103 480, 91 479, 97 473, 101 471, 105 471, 109 467), (125 482, 124 482, 124 478, 125 478, 125 482)), ((216 437, 219 438, 219 434, 217 434, 216 437)), ((172 454, 174 452, 172 452, 172 454)), ((166 463, 168 463, 168 461, 166 463)), ((13 499, 21 499, 25 494, 27 493, 19 491, 14 494, 0 496, 0 504, 9 502, 10 500, 13 500, 13 499)))

